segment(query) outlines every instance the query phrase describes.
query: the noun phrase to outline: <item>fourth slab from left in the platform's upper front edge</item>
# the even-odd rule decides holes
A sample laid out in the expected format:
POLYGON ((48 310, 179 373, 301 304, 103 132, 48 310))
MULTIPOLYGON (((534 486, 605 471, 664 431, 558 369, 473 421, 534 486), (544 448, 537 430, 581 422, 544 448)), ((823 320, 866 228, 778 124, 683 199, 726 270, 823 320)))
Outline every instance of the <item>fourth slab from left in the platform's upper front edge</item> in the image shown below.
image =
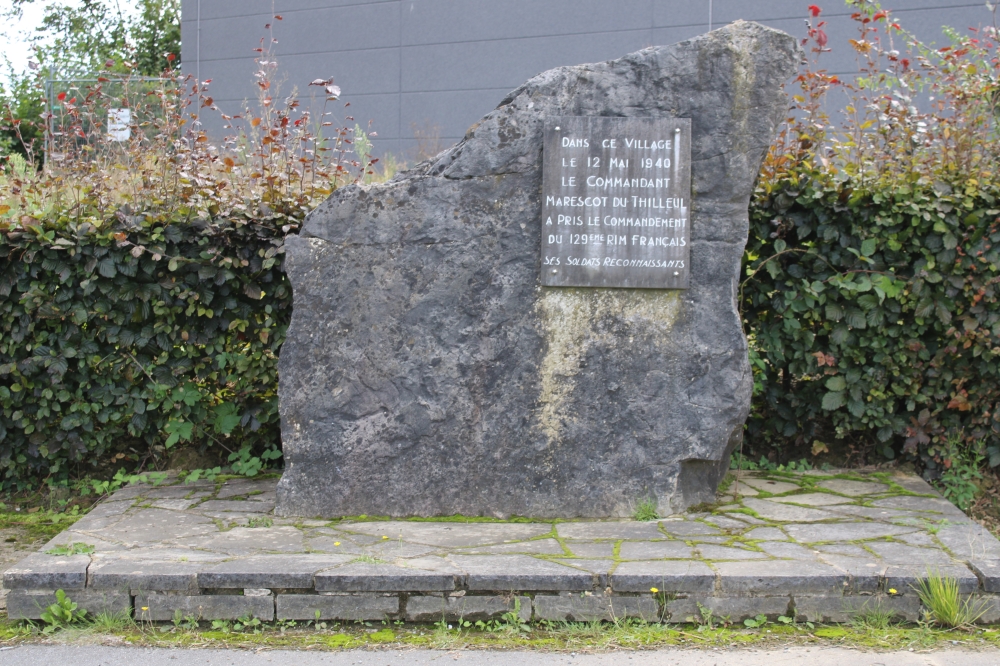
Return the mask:
POLYGON ((317 592, 447 592, 455 589, 455 578, 448 572, 352 562, 317 573, 315 585, 317 592))

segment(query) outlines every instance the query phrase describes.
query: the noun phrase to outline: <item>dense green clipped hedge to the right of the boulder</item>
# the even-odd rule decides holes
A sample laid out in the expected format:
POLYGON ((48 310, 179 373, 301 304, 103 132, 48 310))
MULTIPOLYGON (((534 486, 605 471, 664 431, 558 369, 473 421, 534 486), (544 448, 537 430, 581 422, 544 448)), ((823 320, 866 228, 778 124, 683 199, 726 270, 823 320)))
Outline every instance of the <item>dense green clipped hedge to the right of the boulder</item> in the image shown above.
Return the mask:
POLYGON ((802 171, 763 182, 751 208, 751 442, 874 444, 932 472, 997 462, 1000 186, 855 189, 802 171))

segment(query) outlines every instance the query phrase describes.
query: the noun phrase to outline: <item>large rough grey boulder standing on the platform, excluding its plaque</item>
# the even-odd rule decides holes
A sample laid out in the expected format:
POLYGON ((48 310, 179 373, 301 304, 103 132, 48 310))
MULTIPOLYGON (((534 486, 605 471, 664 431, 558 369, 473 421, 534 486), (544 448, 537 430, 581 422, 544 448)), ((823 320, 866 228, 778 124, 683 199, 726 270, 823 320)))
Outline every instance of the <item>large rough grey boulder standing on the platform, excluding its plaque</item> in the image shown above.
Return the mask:
POLYGON ((748 22, 511 92, 287 241, 283 515, 628 516, 713 499, 751 392, 748 205, 795 40, 748 22), (542 121, 692 123, 690 288, 539 281, 542 121))

